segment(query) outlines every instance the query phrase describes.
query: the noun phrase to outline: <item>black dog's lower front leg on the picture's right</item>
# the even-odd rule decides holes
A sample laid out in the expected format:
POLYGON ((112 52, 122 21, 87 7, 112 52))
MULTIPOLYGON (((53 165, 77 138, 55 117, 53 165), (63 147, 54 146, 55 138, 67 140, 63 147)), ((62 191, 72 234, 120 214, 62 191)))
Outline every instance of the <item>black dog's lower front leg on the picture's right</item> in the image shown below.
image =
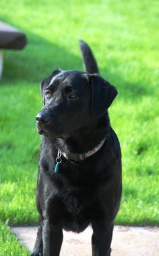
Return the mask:
POLYGON ((92 224, 92 256, 110 256, 113 227, 113 224, 107 226, 104 222, 92 224))

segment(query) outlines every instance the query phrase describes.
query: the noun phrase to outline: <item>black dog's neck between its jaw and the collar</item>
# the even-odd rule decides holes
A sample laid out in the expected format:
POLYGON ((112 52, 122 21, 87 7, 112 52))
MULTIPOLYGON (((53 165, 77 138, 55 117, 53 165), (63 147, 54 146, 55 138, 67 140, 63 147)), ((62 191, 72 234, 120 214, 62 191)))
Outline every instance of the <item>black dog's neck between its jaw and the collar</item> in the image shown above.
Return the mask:
POLYGON ((58 138, 57 148, 67 153, 85 153, 91 151, 104 138, 110 128, 108 115, 100 120, 95 120, 89 126, 79 128, 72 132, 69 138, 58 138))

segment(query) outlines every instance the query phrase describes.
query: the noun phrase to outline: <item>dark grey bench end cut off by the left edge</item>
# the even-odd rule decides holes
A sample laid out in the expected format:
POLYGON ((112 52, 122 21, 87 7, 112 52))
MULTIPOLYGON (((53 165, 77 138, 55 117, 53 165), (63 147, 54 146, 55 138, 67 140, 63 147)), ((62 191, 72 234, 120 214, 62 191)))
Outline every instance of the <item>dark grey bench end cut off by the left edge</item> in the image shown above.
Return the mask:
POLYGON ((3 72, 3 50, 20 50, 26 46, 26 35, 20 30, 0 22, 0 78, 3 72))

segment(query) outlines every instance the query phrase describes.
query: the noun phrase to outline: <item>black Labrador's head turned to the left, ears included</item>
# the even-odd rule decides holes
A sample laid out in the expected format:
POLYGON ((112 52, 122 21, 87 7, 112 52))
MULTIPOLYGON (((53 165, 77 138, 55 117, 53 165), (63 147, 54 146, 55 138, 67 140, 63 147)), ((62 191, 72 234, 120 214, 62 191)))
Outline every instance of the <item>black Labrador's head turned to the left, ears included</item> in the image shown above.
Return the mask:
POLYGON ((43 107, 36 116, 39 134, 67 136, 100 119, 117 96, 98 74, 55 70, 40 85, 43 107))

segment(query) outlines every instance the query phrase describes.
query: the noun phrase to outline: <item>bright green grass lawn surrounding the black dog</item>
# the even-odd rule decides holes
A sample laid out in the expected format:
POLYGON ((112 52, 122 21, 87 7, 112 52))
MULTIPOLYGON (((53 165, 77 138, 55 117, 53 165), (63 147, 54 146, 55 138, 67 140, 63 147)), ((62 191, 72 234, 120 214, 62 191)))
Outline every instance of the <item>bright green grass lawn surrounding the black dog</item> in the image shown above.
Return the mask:
POLYGON ((79 39, 119 91, 109 110, 123 154, 116 223, 159 226, 158 0, 1 0, 0 17, 28 36, 23 51, 5 51, 0 80, 0 255, 27 255, 8 225, 37 222, 39 84, 55 68, 83 69, 79 39))

